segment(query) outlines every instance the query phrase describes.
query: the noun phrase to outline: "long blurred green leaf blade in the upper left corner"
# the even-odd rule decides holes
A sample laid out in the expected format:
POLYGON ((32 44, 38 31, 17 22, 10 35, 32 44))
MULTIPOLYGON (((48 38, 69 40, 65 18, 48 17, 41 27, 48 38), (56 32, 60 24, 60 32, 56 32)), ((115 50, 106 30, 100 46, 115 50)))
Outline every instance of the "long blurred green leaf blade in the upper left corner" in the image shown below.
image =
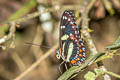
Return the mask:
MULTIPOLYGON (((33 8, 35 8, 36 5, 37 5, 37 0, 29 0, 23 5, 23 7, 21 7, 19 10, 13 13, 8 20, 4 21, 4 23, 17 20, 18 18, 30 12, 33 8)), ((2 26, 0 25, 0 34, 1 34, 0 37, 5 35, 8 28, 9 28, 8 25, 2 25, 2 26)))

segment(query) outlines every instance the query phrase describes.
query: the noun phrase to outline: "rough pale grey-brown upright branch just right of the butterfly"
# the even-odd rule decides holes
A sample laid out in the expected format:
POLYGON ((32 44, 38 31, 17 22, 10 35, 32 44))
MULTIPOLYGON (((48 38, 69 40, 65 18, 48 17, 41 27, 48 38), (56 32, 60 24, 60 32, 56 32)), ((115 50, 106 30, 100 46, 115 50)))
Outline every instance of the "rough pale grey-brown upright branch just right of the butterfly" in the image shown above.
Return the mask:
MULTIPOLYGON (((88 30, 88 13, 90 11, 90 9, 92 8, 93 4, 96 2, 96 0, 91 0, 91 2, 88 4, 87 8, 84 10, 84 12, 82 13, 82 34, 85 37, 85 40, 88 43, 88 47, 90 49, 90 51, 92 52, 93 55, 98 54, 98 51, 92 41, 92 38, 89 34, 88 30)), ((102 61, 98 62, 97 65, 102 69, 107 71, 107 69, 104 67, 102 61)), ((105 74, 104 75, 104 80, 111 80, 110 76, 105 74)))

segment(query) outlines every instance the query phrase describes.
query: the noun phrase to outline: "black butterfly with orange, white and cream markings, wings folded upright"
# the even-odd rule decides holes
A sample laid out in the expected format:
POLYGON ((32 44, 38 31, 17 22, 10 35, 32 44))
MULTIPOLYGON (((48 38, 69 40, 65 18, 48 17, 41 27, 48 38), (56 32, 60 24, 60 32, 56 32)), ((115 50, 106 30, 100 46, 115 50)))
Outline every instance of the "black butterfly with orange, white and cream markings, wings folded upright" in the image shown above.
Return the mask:
POLYGON ((85 46, 80 37, 76 19, 71 11, 65 10, 59 28, 59 50, 56 57, 72 66, 81 65, 85 61, 85 46))

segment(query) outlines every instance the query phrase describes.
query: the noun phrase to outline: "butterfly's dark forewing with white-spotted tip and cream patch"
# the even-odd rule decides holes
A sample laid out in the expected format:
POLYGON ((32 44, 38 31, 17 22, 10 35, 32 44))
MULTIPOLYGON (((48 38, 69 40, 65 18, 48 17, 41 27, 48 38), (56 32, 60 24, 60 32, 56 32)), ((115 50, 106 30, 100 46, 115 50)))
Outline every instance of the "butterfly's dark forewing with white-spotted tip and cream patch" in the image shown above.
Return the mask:
MULTIPOLYGON (((59 42, 60 42, 60 54, 63 60, 66 60, 67 49, 65 49, 65 44, 67 45, 66 41, 69 38, 70 33, 73 33, 72 30, 72 25, 76 25, 75 23, 75 18, 74 15, 71 11, 64 11, 62 18, 61 18, 61 23, 60 23, 60 37, 59 37, 59 42), (71 24, 74 23, 74 24, 71 24)), ((68 45, 69 46, 69 45, 68 45)))

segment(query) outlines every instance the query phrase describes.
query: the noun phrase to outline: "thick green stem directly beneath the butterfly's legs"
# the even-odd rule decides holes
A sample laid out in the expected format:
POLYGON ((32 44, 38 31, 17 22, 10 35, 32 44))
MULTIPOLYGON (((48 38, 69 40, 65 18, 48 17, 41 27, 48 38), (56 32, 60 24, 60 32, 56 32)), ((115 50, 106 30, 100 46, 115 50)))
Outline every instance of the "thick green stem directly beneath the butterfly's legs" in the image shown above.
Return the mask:
MULTIPOLYGON (((96 55, 89 56, 89 58, 85 61, 84 64, 82 64, 81 66, 71 67, 64 74, 62 74, 57 80, 68 80, 68 79, 71 79, 71 78, 77 76, 78 72, 82 72, 88 66, 88 64, 91 61, 97 59, 100 55, 101 54, 96 54, 96 55)), ((93 64, 93 63, 91 63, 91 64, 93 64)), ((89 65, 91 65, 91 64, 89 64, 89 65)))

